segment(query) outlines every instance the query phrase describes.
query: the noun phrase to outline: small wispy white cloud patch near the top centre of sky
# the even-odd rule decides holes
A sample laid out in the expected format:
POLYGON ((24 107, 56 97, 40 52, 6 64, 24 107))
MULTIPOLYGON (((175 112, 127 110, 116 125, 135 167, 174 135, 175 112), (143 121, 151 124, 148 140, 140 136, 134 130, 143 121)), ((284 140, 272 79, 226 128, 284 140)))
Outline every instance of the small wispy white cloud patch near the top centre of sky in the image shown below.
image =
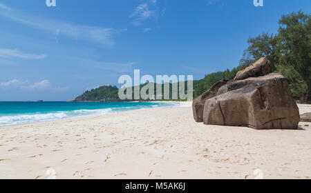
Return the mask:
POLYGON ((142 3, 135 8, 130 18, 133 19, 131 23, 134 26, 139 26, 143 21, 146 21, 149 18, 157 19, 158 13, 156 11, 149 10, 148 3, 142 3))

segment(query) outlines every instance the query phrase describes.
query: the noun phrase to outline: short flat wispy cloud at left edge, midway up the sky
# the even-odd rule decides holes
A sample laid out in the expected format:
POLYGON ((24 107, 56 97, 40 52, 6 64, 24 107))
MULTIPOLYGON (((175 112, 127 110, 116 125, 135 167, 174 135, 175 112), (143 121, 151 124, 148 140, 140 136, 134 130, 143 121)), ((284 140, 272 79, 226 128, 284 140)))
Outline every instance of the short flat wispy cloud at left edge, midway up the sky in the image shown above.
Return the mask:
POLYGON ((45 59, 46 55, 28 54, 28 53, 21 52, 19 50, 10 50, 6 48, 0 48, 0 57, 1 58, 20 58, 20 59, 45 59))

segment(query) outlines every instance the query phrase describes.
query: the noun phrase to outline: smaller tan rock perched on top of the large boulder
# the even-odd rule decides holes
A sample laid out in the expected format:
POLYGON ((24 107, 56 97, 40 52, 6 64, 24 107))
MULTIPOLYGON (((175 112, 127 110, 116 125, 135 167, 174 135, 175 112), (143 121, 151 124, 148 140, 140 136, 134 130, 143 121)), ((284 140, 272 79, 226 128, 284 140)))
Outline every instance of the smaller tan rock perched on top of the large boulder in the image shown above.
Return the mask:
POLYGON ((249 77, 261 77, 272 72, 271 63, 265 57, 259 59, 251 66, 236 73, 234 80, 243 80, 249 77))

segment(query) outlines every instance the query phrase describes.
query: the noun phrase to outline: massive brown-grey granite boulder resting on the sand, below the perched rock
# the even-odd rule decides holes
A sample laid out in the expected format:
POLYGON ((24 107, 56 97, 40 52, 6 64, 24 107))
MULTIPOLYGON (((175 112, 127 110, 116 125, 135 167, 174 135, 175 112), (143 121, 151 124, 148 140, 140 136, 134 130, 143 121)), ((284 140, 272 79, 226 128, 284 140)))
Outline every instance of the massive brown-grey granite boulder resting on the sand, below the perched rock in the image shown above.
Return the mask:
POLYGON ((299 109, 287 79, 282 74, 257 77, 258 74, 216 83, 194 100, 194 119, 207 125, 247 126, 257 130, 296 129, 299 109))

